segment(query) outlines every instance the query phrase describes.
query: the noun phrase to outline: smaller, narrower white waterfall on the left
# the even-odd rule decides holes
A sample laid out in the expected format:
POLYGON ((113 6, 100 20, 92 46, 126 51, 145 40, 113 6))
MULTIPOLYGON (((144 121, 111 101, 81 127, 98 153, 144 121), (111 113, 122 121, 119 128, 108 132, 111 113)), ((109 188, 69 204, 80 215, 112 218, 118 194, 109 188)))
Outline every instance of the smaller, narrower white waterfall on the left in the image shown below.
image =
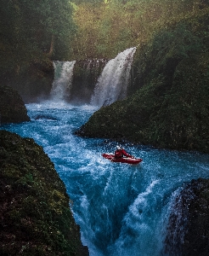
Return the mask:
POLYGON ((71 95, 73 67, 76 61, 54 61, 54 82, 51 98, 54 101, 67 101, 71 95))

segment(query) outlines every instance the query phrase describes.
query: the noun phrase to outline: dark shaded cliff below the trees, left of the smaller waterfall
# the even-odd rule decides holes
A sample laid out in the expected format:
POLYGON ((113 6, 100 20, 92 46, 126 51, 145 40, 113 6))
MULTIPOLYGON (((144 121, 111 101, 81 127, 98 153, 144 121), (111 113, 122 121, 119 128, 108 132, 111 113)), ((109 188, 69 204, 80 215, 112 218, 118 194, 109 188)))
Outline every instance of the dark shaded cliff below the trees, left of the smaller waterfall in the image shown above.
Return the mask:
POLYGON ((10 61, 10 69, 0 70, 3 84, 17 90, 25 103, 48 98, 54 80, 53 61, 44 55, 36 61, 29 59, 16 65, 14 60, 10 61))

